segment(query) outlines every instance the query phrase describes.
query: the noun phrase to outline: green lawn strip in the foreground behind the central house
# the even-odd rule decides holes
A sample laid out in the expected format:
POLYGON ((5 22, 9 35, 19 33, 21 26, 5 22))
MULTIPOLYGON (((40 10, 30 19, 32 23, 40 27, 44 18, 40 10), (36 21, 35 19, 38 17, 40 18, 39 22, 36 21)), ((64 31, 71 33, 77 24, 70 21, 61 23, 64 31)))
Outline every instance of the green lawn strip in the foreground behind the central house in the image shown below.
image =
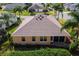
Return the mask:
POLYGON ((2 55, 4 56, 71 56, 71 53, 62 48, 48 48, 48 47, 19 47, 18 49, 8 49, 2 55))

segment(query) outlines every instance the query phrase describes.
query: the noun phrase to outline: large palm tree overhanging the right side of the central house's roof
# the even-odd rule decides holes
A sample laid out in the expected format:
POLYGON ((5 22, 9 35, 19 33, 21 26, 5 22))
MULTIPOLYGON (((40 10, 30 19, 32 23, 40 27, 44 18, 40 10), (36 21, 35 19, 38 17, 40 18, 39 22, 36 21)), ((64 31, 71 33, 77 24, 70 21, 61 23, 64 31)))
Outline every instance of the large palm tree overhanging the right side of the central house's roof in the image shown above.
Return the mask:
POLYGON ((79 12, 71 12, 70 15, 72 16, 72 19, 68 20, 65 22, 65 24, 63 25, 62 29, 68 29, 71 28, 75 33, 76 36, 76 40, 75 43, 77 43, 78 38, 79 38, 79 12))

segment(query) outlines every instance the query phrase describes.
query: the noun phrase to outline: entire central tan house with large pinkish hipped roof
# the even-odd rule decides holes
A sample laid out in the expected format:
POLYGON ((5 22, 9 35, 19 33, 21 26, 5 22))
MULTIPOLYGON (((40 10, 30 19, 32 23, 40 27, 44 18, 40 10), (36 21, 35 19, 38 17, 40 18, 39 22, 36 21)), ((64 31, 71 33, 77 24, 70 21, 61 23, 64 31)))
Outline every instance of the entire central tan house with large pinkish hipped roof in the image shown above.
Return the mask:
POLYGON ((13 44, 68 47, 71 39, 60 23, 48 15, 27 16, 12 34, 13 44))

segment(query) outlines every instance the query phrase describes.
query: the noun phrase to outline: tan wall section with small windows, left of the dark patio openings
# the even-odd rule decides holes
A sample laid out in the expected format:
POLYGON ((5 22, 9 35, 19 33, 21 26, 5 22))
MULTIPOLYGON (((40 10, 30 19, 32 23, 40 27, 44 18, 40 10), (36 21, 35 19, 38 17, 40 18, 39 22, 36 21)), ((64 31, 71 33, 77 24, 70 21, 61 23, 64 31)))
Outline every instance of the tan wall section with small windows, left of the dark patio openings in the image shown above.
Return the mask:
POLYGON ((47 37, 47 41, 40 41, 40 37, 39 36, 36 36, 35 37, 35 41, 32 41, 32 37, 31 36, 27 36, 25 37, 25 41, 22 41, 21 39, 22 37, 20 36, 15 36, 13 37, 13 43, 17 43, 17 44, 30 44, 30 45, 33 45, 33 44, 36 44, 36 45, 50 45, 50 37, 48 36, 47 37))

